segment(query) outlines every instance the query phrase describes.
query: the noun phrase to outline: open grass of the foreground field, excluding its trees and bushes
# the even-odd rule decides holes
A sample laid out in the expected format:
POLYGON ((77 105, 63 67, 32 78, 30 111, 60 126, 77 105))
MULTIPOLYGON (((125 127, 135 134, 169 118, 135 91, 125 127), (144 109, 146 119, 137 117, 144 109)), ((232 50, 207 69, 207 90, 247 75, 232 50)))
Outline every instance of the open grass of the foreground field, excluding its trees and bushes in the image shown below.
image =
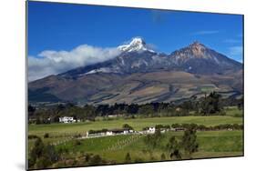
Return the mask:
MULTIPOLYGON (((176 136, 181 140, 183 132, 169 132, 163 134, 163 138, 156 148, 145 144, 145 136, 104 136, 79 140, 70 140, 67 143, 56 146, 58 151, 67 150, 63 154, 65 160, 58 161, 55 166, 90 166, 85 162, 87 154, 99 155, 111 164, 138 163, 150 161, 173 160, 165 150, 170 136, 176 136), (126 154, 131 160, 126 161, 126 154), (165 158, 162 158, 162 156, 165 158)), ((202 131, 197 133, 199 151, 188 158, 208 158, 220 156, 243 156, 242 131, 202 131)), ((182 152, 185 154, 185 152, 182 152)))

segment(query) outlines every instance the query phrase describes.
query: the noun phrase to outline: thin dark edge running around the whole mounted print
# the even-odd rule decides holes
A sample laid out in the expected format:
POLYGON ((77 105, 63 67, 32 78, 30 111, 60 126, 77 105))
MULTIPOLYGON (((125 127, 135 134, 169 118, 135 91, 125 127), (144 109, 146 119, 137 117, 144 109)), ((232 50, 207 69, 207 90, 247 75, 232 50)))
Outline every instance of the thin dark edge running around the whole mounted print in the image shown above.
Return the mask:
MULTIPOLYGON (((36 2, 42 4, 63 4, 63 5, 93 5, 93 4, 82 4, 82 3, 66 3, 66 2, 51 2, 51 1, 36 1, 36 0, 26 0, 26 170, 49 170, 49 169, 63 169, 63 168, 83 168, 83 167, 92 167, 92 166, 67 166, 67 167, 55 167, 55 168, 43 168, 43 169, 29 169, 28 168, 28 3, 29 2, 36 2)), ((95 5, 94 5, 95 6, 95 5)), ((149 8, 149 7, 135 7, 135 6, 121 6, 121 5, 96 5, 96 6, 105 6, 105 7, 121 7, 121 8, 132 8, 132 9, 148 9, 148 10, 159 10, 159 11, 174 11, 174 12, 188 12, 188 13, 203 13, 203 14, 216 14, 216 15, 241 15, 242 16, 242 81, 243 81, 243 104, 244 104, 244 15, 243 14, 232 14, 232 13, 216 13, 216 12, 202 12, 202 11, 192 11, 192 10, 175 10, 175 9, 158 9, 158 8, 149 8)), ((189 160, 204 160, 204 159, 218 159, 218 158, 234 158, 234 157, 243 157, 244 155, 244 131, 245 131, 245 121, 244 121, 244 108, 243 108, 243 151, 241 156, 215 156, 215 157, 203 157, 203 158, 192 158, 192 159, 182 159, 182 160, 165 160, 165 161, 151 161, 151 162, 138 162, 138 163, 124 163, 124 164, 110 164, 110 165, 97 165, 97 166, 120 166, 120 165, 139 165, 139 164, 148 164, 148 163, 162 163, 162 162, 182 162, 182 161, 189 161, 189 160)))

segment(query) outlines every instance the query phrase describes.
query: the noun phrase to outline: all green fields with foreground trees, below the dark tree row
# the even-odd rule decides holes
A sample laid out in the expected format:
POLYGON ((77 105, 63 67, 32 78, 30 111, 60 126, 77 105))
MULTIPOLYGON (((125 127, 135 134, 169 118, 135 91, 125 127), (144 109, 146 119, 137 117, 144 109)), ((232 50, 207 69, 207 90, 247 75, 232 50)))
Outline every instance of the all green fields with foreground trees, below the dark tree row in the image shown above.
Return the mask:
POLYGON ((232 106, 225 107, 224 112, 226 116, 165 116, 129 119, 119 117, 75 124, 29 125, 30 168, 242 156, 242 117, 240 117, 242 111, 237 106, 232 106), (169 131, 143 136, 123 135, 79 139, 90 129, 130 126, 138 131, 147 126, 156 126, 159 129, 171 126, 192 128, 196 132, 169 131), (33 151, 37 151, 38 137, 42 139, 44 147, 41 151, 44 152, 35 157, 33 151), (46 152, 45 149, 50 149, 50 152, 46 152), (53 158, 57 160, 48 160, 50 157, 46 156, 50 155, 55 156, 53 158), (36 161, 39 163, 37 164, 36 161))

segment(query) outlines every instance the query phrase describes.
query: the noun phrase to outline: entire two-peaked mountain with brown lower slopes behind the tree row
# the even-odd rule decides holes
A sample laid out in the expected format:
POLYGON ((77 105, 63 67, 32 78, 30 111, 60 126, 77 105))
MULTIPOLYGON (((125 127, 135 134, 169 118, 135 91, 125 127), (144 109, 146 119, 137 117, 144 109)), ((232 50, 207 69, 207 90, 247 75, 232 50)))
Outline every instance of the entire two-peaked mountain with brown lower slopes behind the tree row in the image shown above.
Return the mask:
POLYGON ((202 96, 243 94, 243 65, 200 42, 171 54, 152 50, 135 37, 118 56, 28 84, 29 102, 79 104, 169 102, 202 96))

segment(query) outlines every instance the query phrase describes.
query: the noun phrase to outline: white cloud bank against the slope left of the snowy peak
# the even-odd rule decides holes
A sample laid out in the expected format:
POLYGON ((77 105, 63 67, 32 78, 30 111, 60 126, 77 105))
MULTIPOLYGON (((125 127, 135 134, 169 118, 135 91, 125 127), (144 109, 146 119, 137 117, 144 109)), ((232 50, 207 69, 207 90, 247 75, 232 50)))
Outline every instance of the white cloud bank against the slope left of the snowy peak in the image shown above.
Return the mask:
POLYGON ((104 62, 119 55, 117 48, 79 45, 71 51, 46 50, 37 56, 28 56, 28 81, 56 75, 84 65, 104 62))

